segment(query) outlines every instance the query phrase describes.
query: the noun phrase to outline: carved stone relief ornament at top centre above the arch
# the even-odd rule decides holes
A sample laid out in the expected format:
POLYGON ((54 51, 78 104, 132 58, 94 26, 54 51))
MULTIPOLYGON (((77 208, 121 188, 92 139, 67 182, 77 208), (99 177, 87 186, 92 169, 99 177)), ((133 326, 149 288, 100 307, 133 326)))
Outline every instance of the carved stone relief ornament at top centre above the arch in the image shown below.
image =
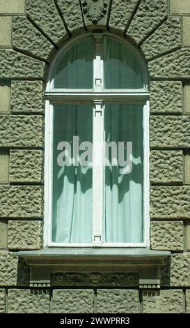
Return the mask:
POLYGON ((97 24, 106 15, 108 2, 108 0, 81 0, 84 15, 93 24, 97 24))

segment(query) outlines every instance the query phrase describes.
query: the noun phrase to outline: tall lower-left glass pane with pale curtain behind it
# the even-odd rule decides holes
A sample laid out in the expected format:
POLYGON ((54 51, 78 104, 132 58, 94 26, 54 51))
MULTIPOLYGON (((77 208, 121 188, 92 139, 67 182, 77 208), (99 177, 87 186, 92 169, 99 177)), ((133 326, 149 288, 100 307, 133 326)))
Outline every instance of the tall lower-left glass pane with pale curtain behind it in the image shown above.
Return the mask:
POLYGON ((92 142, 92 119, 89 105, 54 105, 54 242, 92 241, 92 168, 81 163, 82 142, 92 142))

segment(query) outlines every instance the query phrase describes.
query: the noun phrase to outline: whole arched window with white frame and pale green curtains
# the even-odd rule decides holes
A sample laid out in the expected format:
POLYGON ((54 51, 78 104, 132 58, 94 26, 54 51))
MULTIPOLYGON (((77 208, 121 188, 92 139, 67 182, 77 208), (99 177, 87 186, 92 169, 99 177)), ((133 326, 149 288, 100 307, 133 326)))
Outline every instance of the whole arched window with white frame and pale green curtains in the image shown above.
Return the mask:
POLYGON ((110 33, 63 47, 46 91, 48 246, 148 246, 148 74, 110 33))

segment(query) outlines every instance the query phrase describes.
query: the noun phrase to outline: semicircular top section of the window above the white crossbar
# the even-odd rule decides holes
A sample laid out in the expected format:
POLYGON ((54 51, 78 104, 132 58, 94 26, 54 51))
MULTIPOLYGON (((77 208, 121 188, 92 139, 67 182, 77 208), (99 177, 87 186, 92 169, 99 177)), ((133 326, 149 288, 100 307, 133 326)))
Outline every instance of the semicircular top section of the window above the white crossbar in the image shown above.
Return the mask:
POLYGON ((52 63, 49 81, 50 89, 148 90, 140 52, 109 33, 89 33, 63 47, 52 63))

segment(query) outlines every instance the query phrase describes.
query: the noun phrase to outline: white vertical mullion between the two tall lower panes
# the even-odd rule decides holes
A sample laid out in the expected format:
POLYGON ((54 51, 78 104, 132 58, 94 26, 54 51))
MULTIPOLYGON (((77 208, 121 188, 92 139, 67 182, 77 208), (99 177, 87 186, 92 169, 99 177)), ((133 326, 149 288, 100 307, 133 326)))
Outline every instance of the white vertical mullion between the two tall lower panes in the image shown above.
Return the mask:
POLYGON ((104 105, 93 106, 93 246, 102 246, 104 215, 104 105))

